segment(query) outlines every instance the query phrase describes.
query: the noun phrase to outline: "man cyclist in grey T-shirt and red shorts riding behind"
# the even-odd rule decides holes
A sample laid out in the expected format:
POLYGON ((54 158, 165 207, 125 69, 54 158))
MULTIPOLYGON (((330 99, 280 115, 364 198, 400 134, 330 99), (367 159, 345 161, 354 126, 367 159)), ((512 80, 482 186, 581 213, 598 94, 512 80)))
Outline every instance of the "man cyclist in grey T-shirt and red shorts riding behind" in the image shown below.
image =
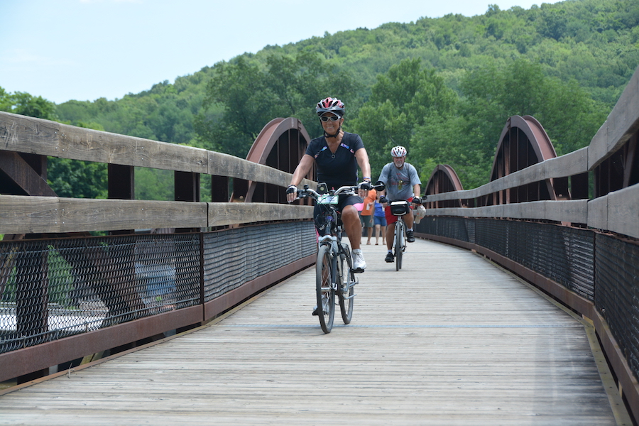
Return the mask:
MULTIPOLYGON (((392 263, 395 260, 395 256, 393 256, 393 234, 395 233, 395 222, 397 222, 397 216, 391 213, 389 203, 399 200, 412 201, 415 204, 420 204, 421 202, 419 195, 422 181, 417 174, 417 169, 412 164, 406 163, 406 154, 406 148, 403 146, 395 146, 391 149, 393 162, 382 168, 378 179, 386 185, 386 190, 379 202, 383 205, 386 214, 386 248, 388 253, 384 260, 388 263, 392 263)), ((412 209, 408 214, 404 215, 404 222, 406 223, 406 239, 409 243, 414 243, 412 209)))

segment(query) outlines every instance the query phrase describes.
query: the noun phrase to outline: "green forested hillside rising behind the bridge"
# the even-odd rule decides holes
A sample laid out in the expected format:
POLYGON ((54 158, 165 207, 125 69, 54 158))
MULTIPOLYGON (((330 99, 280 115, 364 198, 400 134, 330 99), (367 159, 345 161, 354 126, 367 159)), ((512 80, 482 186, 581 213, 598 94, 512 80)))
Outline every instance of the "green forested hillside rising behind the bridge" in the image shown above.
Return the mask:
MULTIPOLYGON (((319 135, 315 103, 339 97, 344 129, 361 134, 373 176, 389 148, 403 144, 424 183, 437 163, 447 163, 468 189, 487 182, 511 115, 535 116, 559 154, 586 146, 639 65, 638 24, 636 0, 415 16, 266 46, 123 99, 65 102, 53 116, 244 157, 276 116, 297 116, 319 135)), ((3 93, 0 109, 11 110, 3 93)))

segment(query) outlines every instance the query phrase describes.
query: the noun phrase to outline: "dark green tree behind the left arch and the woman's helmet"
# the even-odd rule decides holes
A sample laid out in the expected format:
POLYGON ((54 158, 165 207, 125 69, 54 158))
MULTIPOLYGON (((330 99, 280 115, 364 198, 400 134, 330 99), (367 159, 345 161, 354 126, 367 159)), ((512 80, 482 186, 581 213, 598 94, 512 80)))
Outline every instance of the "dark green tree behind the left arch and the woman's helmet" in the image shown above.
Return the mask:
POLYGON ((295 116, 310 134, 320 133, 315 104, 327 96, 353 98, 355 88, 348 72, 338 74, 319 55, 305 50, 295 57, 269 55, 264 65, 244 57, 220 62, 195 120, 199 146, 244 157, 275 117, 295 116), (222 114, 210 114, 214 107, 222 114))

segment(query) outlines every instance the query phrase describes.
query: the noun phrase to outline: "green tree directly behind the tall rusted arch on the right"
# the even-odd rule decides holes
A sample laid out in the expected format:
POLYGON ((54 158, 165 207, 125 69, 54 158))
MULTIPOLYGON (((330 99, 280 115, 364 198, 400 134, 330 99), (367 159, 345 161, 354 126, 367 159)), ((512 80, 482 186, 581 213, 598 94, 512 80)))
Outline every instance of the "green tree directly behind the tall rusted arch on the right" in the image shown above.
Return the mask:
MULTIPOLYGON (((424 164, 452 165, 466 189, 484 185, 508 117, 530 115, 540 121, 558 155, 587 146, 606 119, 602 108, 577 82, 547 77, 542 66, 516 60, 469 72, 464 97, 454 114, 417 126, 413 136, 424 164)), ((422 178, 432 170, 422 170, 422 178)))

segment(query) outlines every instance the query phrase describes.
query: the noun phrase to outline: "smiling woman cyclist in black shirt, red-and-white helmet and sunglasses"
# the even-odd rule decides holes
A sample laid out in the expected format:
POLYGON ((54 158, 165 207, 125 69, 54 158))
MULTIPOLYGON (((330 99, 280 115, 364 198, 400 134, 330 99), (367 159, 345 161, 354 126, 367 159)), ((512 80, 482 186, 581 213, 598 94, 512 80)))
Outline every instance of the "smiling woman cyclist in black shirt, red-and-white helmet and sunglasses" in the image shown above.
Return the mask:
MULTIPOLYGON (((361 168, 364 177, 359 184, 364 190, 364 197, 368 195, 371 185, 371 165, 368 163, 368 153, 364 148, 361 137, 356 133, 342 130, 344 123, 344 103, 339 99, 327 97, 317 103, 315 112, 320 116, 320 124, 324 129, 324 136, 315 138, 308 144, 306 153, 300 164, 295 168, 293 179, 286 190, 288 202, 293 202, 297 196, 297 185, 300 185, 310 171, 313 163, 317 165, 317 182, 326 183, 327 188, 337 190, 342 186, 358 185, 357 166, 361 168)), ((342 223, 351 243, 353 253, 353 271, 364 272, 366 261, 361 253, 361 222, 359 212, 354 204, 362 199, 356 195, 339 195, 337 210, 342 212, 342 223)), ((320 215, 320 207, 315 205, 314 217, 320 215)), ((317 225, 317 219, 315 220, 317 225)), ((319 230, 323 234, 322 230, 319 230)))

